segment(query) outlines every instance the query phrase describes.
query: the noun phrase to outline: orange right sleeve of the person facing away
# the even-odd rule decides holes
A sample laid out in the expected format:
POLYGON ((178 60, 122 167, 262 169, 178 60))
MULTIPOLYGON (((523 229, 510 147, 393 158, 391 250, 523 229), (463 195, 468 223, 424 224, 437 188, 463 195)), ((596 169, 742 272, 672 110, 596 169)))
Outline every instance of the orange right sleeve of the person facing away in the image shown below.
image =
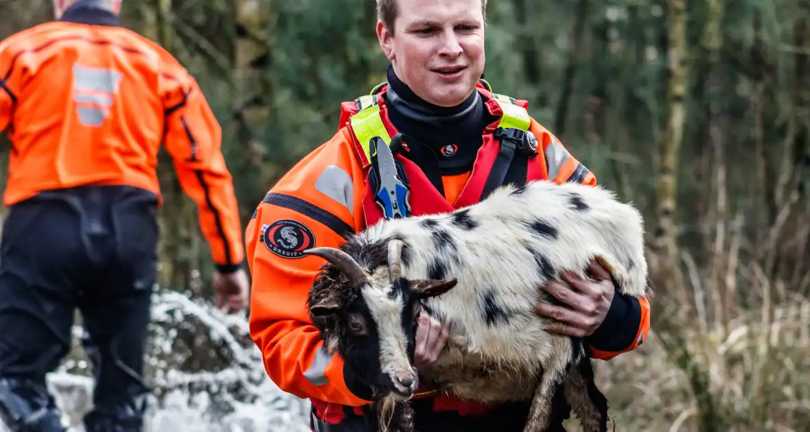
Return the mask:
POLYGON ((222 130, 198 84, 181 66, 163 74, 164 145, 177 178, 197 204, 198 220, 217 269, 245 260, 237 198, 221 151, 222 130))

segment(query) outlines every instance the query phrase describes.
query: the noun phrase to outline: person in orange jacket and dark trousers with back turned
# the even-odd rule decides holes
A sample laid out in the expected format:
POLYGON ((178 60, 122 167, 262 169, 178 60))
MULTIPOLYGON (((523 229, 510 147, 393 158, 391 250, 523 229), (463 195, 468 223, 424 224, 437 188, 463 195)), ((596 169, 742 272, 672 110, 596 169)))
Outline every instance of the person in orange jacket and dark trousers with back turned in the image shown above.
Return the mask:
POLYGON ((0 43, 0 129, 11 140, 0 247, 0 419, 64 430, 45 376, 74 311, 96 387, 88 432, 143 429, 162 204, 160 145, 216 265, 220 307, 247 307, 242 228, 220 125, 168 52, 122 28, 121 0, 54 0, 56 20, 0 43))

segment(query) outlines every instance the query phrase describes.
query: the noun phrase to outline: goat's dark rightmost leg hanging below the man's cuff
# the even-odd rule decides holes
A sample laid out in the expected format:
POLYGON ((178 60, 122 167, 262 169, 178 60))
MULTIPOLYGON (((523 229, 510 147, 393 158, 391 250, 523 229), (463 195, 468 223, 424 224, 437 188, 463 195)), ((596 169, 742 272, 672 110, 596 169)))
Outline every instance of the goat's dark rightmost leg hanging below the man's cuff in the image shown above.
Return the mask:
POLYGON ((589 358, 583 358, 570 372, 563 392, 583 432, 607 432, 608 400, 596 387, 594 368, 589 358))

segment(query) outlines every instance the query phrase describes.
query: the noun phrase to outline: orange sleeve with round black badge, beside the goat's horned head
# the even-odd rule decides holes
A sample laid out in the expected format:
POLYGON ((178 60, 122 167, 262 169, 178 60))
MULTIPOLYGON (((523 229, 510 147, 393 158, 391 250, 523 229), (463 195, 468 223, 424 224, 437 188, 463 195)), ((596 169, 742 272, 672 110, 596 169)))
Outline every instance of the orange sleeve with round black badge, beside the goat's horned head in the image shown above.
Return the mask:
MULTIPOLYGON (((245 231, 253 276, 250 335, 284 392, 333 404, 369 402, 339 355, 327 354, 306 299, 326 262, 301 251, 338 247, 362 221, 362 170, 344 131, 313 150, 267 193, 245 231)), ((366 396, 369 397, 369 396, 366 396)))

